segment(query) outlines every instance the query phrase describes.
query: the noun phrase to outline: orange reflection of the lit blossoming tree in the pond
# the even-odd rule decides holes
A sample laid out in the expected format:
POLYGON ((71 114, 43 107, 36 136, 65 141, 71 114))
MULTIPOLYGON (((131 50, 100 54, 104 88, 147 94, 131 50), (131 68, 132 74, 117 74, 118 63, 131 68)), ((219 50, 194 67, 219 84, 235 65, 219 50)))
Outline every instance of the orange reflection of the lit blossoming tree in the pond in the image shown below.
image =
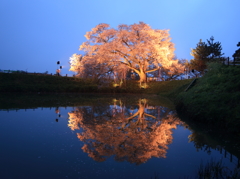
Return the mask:
POLYGON ((174 112, 149 106, 146 99, 134 106, 115 99, 113 105, 82 106, 68 114, 69 128, 81 129, 77 137, 84 142, 82 149, 96 161, 112 155, 136 164, 165 158, 172 129, 180 124, 174 112))

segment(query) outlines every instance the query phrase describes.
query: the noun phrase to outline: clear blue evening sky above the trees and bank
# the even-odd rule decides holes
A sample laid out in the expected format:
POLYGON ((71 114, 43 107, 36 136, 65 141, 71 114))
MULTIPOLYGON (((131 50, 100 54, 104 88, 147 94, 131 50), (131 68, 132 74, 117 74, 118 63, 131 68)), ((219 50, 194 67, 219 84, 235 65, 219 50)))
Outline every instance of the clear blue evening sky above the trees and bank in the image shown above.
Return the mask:
POLYGON ((1 0, 0 69, 69 72, 69 57, 99 23, 117 27, 143 21, 170 29, 175 54, 190 60, 200 39, 214 36, 225 56, 240 41, 240 0, 1 0))

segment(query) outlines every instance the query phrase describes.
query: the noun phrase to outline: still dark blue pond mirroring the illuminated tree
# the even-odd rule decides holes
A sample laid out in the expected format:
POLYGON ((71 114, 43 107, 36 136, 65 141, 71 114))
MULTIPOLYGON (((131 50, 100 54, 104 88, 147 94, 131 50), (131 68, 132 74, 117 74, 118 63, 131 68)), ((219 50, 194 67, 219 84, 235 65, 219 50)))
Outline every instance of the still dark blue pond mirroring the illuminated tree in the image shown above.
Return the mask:
POLYGON ((87 97, 0 110, 0 178, 195 178, 225 146, 190 129, 156 96, 87 97))

